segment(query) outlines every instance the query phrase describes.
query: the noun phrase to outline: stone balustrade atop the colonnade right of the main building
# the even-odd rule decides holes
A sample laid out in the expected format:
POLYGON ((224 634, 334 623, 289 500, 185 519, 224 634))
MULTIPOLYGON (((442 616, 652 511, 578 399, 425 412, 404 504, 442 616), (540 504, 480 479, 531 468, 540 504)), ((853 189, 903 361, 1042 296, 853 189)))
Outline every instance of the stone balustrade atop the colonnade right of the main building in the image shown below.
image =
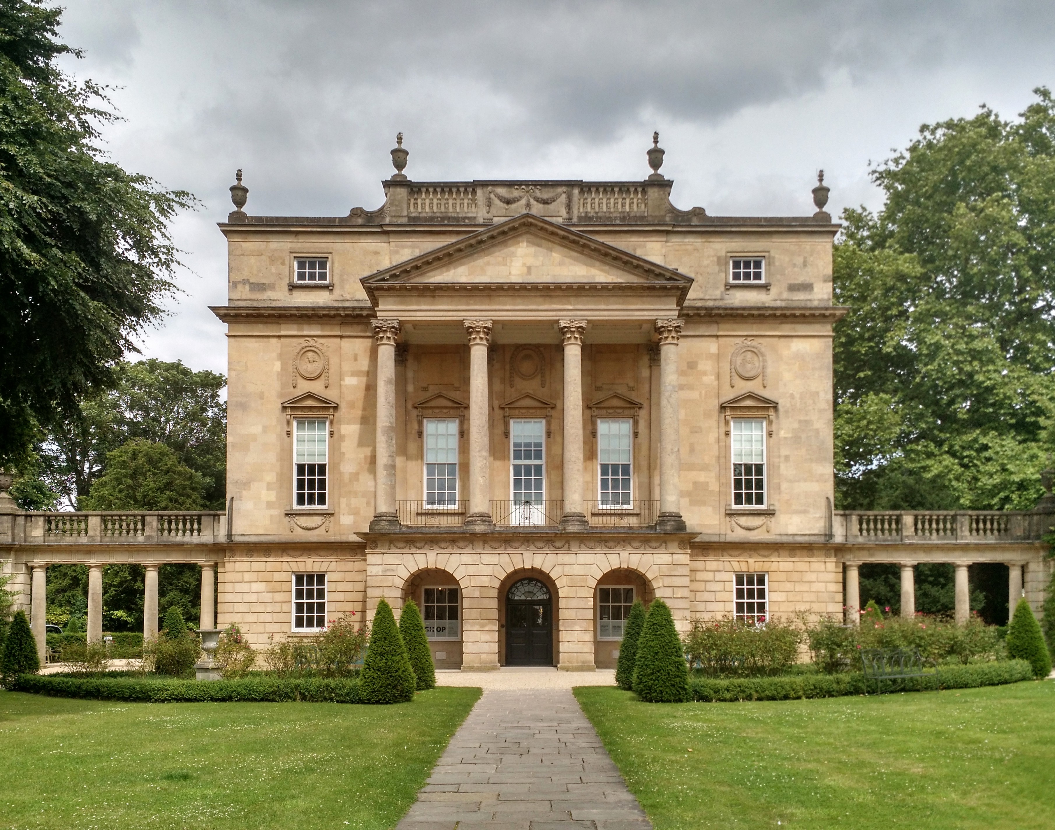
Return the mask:
POLYGON ((837 510, 832 542, 1002 543, 1039 541, 1055 516, 1037 510, 837 510))

